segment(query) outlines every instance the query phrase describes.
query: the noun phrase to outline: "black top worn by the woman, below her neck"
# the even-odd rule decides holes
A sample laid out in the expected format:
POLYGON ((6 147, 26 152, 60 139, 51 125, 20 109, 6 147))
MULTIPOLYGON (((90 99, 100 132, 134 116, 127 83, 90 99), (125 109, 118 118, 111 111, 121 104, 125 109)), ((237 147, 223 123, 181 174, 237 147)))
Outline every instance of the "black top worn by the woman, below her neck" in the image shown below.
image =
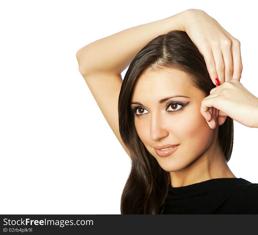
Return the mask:
POLYGON ((169 192, 161 214, 258 214, 258 183, 242 178, 218 178, 169 192))

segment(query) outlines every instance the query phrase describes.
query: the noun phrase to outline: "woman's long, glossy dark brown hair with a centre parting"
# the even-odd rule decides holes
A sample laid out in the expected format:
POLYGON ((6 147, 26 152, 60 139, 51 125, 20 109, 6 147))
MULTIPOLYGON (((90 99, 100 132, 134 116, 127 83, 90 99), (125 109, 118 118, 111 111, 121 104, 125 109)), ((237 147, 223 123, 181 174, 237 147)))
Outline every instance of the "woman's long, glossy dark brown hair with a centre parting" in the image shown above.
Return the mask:
MULTIPOLYGON (((170 31, 159 35, 138 52, 125 74, 118 98, 119 132, 130 151, 131 171, 121 196, 121 214, 159 214, 167 197, 169 172, 145 148, 130 111, 133 88, 139 76, 151 69, 171 68, 184 71, 189 82, 206 96, 212 83, 203 55, 186 32, 170 31)), ((233 147, 233 120, 227 117, 220 125, 218 139, 228 162, 233 147)))

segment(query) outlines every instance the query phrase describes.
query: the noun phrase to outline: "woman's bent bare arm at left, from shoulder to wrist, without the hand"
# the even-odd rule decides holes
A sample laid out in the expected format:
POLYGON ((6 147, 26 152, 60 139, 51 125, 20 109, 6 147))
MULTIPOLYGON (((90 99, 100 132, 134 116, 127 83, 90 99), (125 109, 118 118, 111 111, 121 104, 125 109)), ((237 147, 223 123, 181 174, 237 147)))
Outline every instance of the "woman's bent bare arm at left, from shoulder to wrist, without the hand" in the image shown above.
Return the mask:
POLYGON ((188 11, 96 40, 82 47, 76 54, 79 72, 84 77, 106 121, 129 156, 130 152, 120 137, 118 126, 118 97, 123 81, 121 73, 152 39, 171 30, 184 31, 184 19, 188 11))

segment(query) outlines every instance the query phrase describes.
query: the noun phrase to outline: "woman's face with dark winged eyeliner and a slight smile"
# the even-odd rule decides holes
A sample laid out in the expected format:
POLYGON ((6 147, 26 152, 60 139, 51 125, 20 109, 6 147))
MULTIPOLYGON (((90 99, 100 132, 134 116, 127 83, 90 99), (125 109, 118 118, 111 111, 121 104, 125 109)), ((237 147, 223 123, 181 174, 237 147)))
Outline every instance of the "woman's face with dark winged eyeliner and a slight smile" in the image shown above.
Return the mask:
POLYGON ((136 82, 131 108, 142 116, 134 117, 135 127, 146 149, 165 171, 185 168, 210 146, 213 131, 200 113, 205 97, 189 83, 187 74, 175 69, 146 71, 136 82), (159 103, 171 96, 189 98, 175 97, 159 103), (164 144, 180 145, 174 153, 162 157, 154 147, 164 144))

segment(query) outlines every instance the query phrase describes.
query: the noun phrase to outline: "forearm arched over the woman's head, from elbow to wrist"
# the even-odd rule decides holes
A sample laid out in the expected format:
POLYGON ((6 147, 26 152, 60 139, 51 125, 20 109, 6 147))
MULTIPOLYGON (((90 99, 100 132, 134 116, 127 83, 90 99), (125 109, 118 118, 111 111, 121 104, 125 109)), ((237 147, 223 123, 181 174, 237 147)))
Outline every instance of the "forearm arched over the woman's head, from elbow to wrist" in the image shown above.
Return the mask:
POLYGON ((135 55, 152 39, 171 30, 184 30, 187 11, 162 20, 138 25, 91 42, 76 54, 82 75, 121 74, 135 55))

